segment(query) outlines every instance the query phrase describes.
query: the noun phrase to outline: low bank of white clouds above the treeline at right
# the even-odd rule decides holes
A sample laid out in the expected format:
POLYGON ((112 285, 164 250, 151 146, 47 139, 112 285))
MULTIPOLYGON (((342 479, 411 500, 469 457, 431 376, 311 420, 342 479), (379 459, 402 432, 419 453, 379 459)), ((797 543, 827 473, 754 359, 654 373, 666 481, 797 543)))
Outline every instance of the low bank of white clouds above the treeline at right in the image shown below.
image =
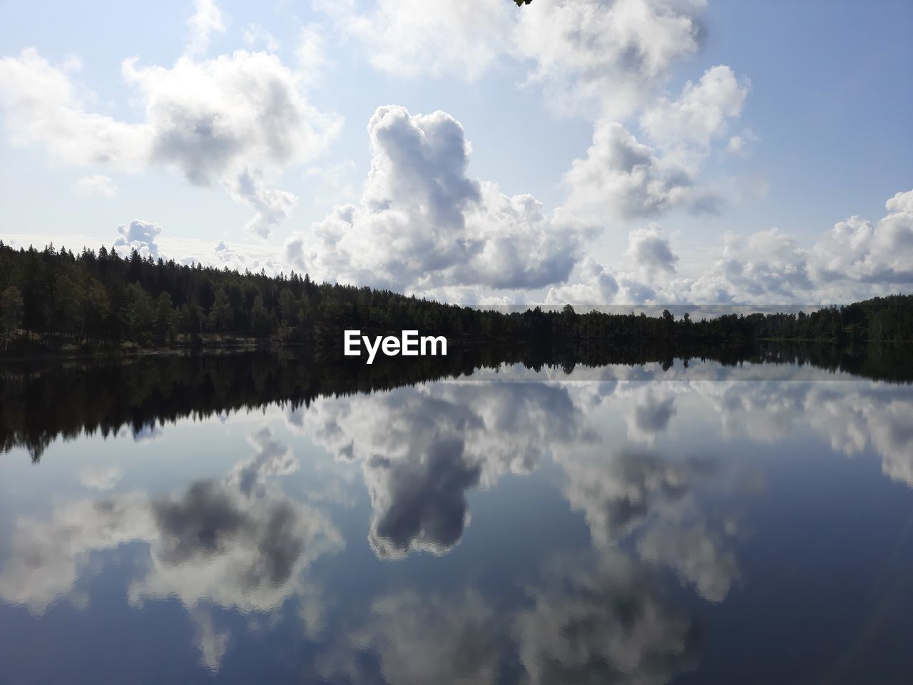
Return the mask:
MULTIPOLYGON (((594 186, 593 186, 594 187, 594 186)), ((779 228, 726 232, 718 257, 702 273, 677 270, 677 255, 656 224, 628 235, 626 262, 615 269, 578 262, 549 304, 816 304, 849 302, 913 282, 913 191, 887 201, 876 223, 851 216, 812 248, 779 228)))

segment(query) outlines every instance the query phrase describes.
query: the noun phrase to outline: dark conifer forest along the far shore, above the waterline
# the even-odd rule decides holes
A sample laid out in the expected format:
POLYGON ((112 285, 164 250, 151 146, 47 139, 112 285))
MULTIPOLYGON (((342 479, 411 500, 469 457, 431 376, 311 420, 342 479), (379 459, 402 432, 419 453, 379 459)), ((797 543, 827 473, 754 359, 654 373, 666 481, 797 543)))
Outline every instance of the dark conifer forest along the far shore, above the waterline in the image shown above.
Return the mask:
POLYGON ((812 313, 727 314, 692 320, 641 313, 502 312, 406 297, 390 290, 315 283, 143 258, 113 249, 79 255, 0 241, 0 326, 7 353, 73 349, 296 343, 338 355, 342 332, 415 329, 456 342, 699 342, 756 339, 913 341, 913 296, 893 295, 812 313))

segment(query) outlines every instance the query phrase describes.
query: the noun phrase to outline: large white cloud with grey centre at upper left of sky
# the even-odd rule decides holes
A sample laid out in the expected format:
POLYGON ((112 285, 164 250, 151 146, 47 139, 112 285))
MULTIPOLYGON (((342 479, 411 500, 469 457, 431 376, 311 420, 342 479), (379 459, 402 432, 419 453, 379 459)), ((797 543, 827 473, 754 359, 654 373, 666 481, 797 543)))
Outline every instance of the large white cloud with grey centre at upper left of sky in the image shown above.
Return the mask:
POLYGON ((34 49, 0 59, 9 132, 13 142, 42 144, 75 165, 135 172, 160 164, 191 184, 223 185, 255 210, 248 230, 266 237, 297 203, 295 195, 269 188, 269 179, 319 154, 341 121, 306 98, 313 64, 293 69, 276 55, 246 50, 196 58, 222 26, 211 0, 196 7, 194 39, 173 67, 123 61, 123 79, 142 105, 135 123, 91 111, 89 95, 34 49))

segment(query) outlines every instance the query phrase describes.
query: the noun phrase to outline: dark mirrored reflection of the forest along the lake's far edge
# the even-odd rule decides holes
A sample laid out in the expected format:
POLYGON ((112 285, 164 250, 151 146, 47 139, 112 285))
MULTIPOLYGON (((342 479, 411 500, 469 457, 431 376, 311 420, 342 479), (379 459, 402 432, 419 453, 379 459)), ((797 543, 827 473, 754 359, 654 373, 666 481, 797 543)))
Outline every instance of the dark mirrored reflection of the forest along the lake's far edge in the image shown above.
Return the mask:
MULTIPOLYGON (((871 378, 913 380, 913 355, 902 346, 753 344, 701 349, 642 345, 613 348, 579 344, 560 348, 454 350, 447 357, 419 357, 375 364, 341 364, 295 353, 168 354, 121 360, 51 360, 5 363, 0 368, 0 451, 25 447, 37 460, 56 437, 108 436, 123 427, 134 434, 184 416, 210 416, 281 402, 309 406, 317 397, 386 390, 471 374, 499 364, 524 364, 572 373, 606 364, 714 361, 724 366, 812 364, 871 378)), ((637 423, 661 420, 640 416, 637 423)))

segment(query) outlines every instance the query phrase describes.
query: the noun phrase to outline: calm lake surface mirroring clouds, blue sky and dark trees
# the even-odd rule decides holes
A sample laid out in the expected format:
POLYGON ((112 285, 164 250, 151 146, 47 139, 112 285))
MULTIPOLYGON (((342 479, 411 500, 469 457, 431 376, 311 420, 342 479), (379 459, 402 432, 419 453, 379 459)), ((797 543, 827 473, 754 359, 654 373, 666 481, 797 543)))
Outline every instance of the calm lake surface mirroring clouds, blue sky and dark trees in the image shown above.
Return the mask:
POLYGON ((913 682, 913 385, 296 368, 4 372, 0 682, 913 682))

